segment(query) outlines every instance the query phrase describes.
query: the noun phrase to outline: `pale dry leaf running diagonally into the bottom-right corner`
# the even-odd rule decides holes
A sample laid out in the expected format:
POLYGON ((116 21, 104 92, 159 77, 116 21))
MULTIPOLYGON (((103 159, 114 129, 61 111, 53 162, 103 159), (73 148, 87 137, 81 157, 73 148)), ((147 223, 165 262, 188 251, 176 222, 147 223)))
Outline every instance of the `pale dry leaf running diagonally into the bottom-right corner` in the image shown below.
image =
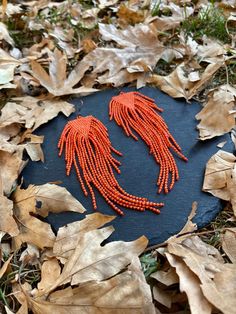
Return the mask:
POLYGON ((169 244, 168 252, 182 258, 182 262, 198 277, 201 290, 211 304, 223 313, 233 313, 236 300, 235 264, 225 264, 218 250, 198 237, 186 239, 182 244, 169 244))

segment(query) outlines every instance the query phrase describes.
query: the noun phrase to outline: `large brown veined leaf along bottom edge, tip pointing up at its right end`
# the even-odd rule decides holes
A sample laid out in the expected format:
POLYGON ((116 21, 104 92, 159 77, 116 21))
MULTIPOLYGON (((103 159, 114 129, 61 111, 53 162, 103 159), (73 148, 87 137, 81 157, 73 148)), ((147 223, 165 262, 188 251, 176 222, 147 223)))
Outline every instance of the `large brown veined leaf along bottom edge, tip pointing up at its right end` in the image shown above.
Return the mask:
POLYGON ((154 314, 150 287, 136 258, 128 270, 101 282, 91 281, 50 294, 48 301, 27 297, 34 314, 154 314))

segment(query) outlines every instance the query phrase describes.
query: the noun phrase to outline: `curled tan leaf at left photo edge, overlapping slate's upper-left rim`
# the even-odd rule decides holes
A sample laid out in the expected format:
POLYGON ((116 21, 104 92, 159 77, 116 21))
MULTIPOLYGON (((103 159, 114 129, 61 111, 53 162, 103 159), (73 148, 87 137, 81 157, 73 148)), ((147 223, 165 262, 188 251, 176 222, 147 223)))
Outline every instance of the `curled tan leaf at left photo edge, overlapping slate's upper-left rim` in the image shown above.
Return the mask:
POLYGON ((39 100, 31 96, 17 97, 3 107, 0 125, 4 127, 20 123, 34 131, 55 118, 59 112, 68 117, 74 110, 72 104, 62 100, 39 100))

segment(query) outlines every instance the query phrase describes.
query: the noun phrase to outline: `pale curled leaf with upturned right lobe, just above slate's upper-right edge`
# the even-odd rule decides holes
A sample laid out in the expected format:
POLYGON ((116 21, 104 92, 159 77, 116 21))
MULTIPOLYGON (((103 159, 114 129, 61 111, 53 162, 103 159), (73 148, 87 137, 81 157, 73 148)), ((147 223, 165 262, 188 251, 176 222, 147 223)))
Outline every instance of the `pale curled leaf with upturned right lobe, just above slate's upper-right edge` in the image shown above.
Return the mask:
POLYGON ((149 83, 159 87, 163 92, 174 98, 184 97, 191 99, 212 78, 212 75, 223 65, 223 62, 209 64, 197 82, 191 82, 185 74, 185 63, 179 64, 176 69, 167 76, 152 75, 149 83))

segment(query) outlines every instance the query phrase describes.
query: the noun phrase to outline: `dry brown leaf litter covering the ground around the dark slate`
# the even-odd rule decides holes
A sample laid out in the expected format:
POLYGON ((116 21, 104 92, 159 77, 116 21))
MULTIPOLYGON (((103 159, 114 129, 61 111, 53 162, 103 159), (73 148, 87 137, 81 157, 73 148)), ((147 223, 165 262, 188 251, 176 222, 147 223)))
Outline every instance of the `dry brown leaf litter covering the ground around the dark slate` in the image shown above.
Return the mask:
POLYGON ((234 313, 233 154, 213 155, 203 182, 229 202, 224 222, 198 230, 194 203, 182 230, 144 253, 144 272, 145 237, 101 245, 115 217, 99 213, 55 234, 43 218, 82 214, 83 205, 56 184, 17 186, 23 153, 44 159, 34 130, 59 112, 69 116, 70 95, 111 86, 151 84, 201 100, 199 139, 233 139, 234 1, 3 1, 0 16, 0 312, 234 313))

